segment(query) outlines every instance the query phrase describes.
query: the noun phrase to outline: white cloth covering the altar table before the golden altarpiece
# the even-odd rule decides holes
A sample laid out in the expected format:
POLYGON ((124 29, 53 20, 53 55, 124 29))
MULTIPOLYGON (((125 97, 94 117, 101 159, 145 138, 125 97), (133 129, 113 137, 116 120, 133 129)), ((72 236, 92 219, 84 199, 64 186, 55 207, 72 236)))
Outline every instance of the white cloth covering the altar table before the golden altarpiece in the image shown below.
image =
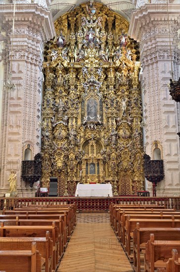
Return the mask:
POLYGON ((77 184, 75 196, 113 196, 111 184, 77 184))

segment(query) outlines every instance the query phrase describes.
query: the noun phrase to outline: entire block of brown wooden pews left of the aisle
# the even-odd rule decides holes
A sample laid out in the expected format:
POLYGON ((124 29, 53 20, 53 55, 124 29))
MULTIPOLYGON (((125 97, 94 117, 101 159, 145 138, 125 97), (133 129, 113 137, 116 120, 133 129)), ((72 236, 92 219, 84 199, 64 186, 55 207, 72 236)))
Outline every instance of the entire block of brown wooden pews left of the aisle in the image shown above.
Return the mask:
POLYGON ((0 271, 55 272, 75 226, 75 204, 3 210, 0 271))

